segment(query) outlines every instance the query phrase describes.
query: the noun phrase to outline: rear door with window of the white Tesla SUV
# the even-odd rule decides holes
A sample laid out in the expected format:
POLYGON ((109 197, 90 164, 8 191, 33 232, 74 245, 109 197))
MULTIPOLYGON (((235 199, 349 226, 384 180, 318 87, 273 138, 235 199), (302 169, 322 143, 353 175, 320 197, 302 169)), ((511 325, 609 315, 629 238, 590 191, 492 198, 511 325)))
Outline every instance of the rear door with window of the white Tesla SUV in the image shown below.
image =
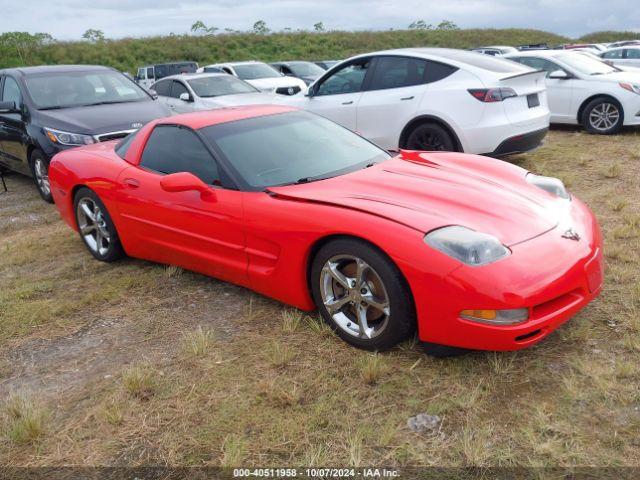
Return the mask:
POLYGON ((358 132, 385 150, 396 150, 402 129, 415 117, 428 88, 426 68, 427 60, 420 58, 376 57, 358 103, 358 132))

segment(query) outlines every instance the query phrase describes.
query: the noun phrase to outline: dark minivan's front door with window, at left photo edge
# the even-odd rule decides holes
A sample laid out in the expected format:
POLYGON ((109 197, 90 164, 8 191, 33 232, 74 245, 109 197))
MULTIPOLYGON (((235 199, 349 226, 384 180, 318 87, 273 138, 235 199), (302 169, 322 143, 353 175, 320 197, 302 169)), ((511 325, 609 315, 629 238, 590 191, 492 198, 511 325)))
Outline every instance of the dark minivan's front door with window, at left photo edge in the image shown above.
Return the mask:
MULTIPOLYGON (((0 101, 14 102, 16 109, 23 110, 23 95, 18 82, 4 77, 0 101)), ((27 123, 23 113, 0 113, 0 150, 3 163, 12 170, 29 174, 27 158, 27 123)))

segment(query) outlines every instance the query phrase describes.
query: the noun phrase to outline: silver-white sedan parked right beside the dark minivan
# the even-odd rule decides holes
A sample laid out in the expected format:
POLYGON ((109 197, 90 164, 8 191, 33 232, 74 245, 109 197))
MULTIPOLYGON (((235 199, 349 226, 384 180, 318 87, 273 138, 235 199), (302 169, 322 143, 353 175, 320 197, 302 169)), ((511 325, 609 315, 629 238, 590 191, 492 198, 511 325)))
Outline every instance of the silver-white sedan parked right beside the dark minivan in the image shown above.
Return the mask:
POLYGON ((151 89, 176 114, 273 103, 274 96, 226 73, 173 75, 154 83, 151 89))

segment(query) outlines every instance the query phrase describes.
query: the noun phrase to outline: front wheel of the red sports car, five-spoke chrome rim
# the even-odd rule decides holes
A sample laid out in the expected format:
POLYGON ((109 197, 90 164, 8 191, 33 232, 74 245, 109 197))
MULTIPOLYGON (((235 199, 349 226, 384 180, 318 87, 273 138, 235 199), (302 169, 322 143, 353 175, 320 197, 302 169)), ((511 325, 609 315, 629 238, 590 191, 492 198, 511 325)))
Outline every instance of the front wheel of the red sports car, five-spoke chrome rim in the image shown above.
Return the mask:
POLYGON ((356 347, 385 350, 415 329, 413 298, 404 277, 366 242, 339 239, 324 245, 313 260, 311 281, 324 320, 356 347))

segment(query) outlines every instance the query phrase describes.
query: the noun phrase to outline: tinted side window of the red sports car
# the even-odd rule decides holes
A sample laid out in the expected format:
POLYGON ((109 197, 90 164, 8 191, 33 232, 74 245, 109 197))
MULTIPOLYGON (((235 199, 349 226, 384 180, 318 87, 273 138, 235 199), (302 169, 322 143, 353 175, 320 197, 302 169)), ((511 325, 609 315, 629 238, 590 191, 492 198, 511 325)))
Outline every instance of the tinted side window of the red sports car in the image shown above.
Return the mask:
POLYGON ((144 147, 140 165, 159 173, 190 172, 208 184, 219 184, 218 165, 198 136, 184 127, 159 125, 144 147))

